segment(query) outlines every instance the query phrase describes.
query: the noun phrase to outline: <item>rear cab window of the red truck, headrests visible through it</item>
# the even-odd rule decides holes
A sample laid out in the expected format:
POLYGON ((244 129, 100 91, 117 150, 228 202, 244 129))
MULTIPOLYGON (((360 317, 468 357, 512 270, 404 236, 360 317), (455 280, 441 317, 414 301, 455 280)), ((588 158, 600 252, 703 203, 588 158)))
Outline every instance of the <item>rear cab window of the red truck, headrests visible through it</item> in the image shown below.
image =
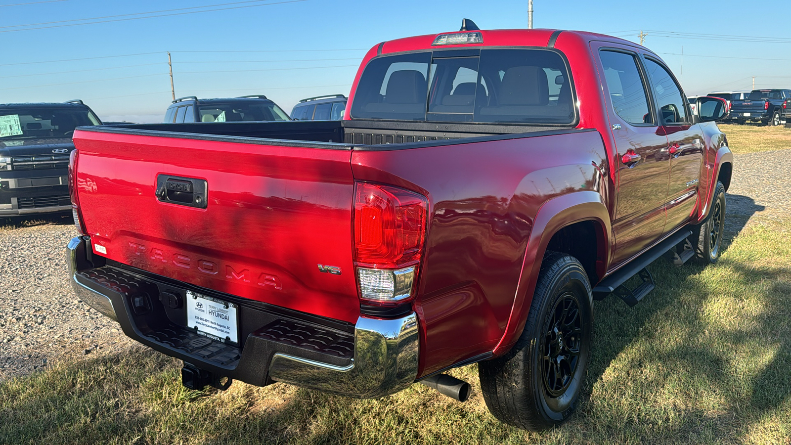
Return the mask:
POLYGON ((426 51, 373 59, 354 119, 573 124, 566 61, 550 49, 426 51))

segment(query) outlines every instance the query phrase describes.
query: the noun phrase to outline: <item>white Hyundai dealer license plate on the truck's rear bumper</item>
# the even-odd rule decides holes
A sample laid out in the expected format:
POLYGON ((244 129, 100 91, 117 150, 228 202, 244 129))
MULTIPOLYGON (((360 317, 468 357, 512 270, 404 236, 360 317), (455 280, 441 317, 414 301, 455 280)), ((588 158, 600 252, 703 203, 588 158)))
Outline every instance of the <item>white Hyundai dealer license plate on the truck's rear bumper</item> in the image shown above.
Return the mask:
POLYGON ((211 339, 239 343, 237 309, 232 302, 187 291, 187 326, 211 339))

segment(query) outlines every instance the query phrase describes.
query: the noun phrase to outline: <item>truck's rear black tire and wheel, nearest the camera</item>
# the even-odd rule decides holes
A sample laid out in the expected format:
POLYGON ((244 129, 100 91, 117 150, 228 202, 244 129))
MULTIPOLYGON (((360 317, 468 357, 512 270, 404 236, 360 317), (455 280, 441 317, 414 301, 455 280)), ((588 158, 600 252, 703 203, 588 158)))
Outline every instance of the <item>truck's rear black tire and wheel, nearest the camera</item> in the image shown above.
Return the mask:
POLYGON ((517 344, 505 356, 478 365, 489 411, 501 422, 532 431, 568 419, 588 372, 592 334, 585 268, 566 253, 547 253, 517 344))

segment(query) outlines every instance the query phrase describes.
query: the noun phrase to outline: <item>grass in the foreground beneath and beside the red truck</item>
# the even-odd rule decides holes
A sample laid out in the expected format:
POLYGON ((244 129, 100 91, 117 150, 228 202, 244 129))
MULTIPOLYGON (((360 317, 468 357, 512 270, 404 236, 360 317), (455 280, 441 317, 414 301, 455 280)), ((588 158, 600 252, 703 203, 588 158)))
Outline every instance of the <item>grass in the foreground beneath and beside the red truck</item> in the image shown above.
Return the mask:
POLYGON ((475 365, 467 403, 422 385, 354 400, 277 383, 180 385, 147 348, 0 382, 0 443, 791 443, 791 233, 729 234, 713 266, 655 262, 657 290, 596 302, 593 359, 572 419, 541 434, 498 423, 475 365))

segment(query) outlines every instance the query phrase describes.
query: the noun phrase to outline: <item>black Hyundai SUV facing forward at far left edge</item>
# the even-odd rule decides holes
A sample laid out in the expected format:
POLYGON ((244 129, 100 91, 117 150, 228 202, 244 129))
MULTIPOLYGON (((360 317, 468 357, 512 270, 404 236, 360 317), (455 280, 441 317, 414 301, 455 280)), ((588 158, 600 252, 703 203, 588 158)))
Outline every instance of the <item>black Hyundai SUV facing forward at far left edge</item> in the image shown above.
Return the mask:
POLYGON ((82 101, 0 104, 0 216, 71 210, 74 128, 101 124, 82 101))

